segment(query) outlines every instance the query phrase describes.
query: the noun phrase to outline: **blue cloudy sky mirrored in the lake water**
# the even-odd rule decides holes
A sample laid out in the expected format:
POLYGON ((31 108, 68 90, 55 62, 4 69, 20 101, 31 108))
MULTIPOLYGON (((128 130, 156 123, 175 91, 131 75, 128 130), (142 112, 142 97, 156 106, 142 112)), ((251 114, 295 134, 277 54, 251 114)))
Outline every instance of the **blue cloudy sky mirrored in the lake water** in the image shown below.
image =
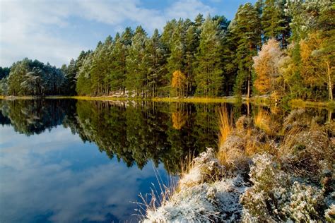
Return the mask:
POLYGON ((131 201, 156 181, 151 162, 128 168, 69 128, 27 137, 0 126, 0 222, 134 220, 131 201))

